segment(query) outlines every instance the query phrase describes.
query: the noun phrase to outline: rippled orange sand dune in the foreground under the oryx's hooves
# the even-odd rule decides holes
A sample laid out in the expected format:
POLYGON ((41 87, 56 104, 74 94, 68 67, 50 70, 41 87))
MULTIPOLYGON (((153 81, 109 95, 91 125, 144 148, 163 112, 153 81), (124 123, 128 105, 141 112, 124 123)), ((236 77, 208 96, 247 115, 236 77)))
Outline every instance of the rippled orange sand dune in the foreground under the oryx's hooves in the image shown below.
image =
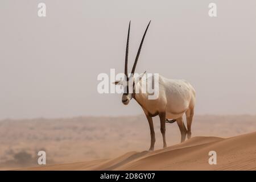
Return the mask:
POLYGON ((109 160, 57 164, 23 170, 255 170, 256 132, 231 138, 193 137, 153 152, 128 152, 109 160), (208 163, 209 151, 217 164, 208 163))

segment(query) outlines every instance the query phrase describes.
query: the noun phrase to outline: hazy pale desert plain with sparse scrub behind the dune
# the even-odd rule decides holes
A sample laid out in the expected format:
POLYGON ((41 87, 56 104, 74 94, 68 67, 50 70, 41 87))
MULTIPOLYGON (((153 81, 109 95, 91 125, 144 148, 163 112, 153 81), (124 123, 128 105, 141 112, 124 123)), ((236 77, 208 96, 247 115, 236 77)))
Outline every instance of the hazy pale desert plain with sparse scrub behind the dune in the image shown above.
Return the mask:
MULTIPOLYGON (((158 117, 154 118, 155 150, 162 150, 158 120, 158 117)), ((253 133, 256 131, 255 121, 256 115, 247 114, 196 115, 192 139, 229 138, 253 133)), ((166 124, 166 138, 168 147, 179 145, 180 132, 176 123, 166 124)), ((144 115, 3 119, 0 121, 0 144, 0 169, 26 169, 40 166, 37 155, 40 150, 46 151, 46 166, 92 160, 102 162, 127 152, 147 151, 150 133, 144 115)))

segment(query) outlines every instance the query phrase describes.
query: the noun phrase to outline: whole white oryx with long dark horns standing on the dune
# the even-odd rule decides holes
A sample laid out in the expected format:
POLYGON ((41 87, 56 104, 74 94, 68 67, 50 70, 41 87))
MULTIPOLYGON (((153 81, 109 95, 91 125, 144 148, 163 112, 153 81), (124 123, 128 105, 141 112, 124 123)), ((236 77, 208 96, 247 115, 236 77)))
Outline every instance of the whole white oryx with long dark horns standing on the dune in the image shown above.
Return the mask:
MULTIPOLYGON (((131 23, 131 22, 130 22, 131 23)), ((134 61, 133 69, 130 76, 127 72, 128 52, 129 52, 129 35, 130 35, 130 23, 128 28, 127 43, 126 43, 126 56, 125 56, 125 78, 120 81, 115 81, 115 85, 122 85, 125 92, 122 96, 122 103, 127 105, 130 100, 134 98, 139 105, 141 105, 144 113, 146 114, 148 124, 150 126, 151 145, 149 150, 154 150, 155 144, 155 131, 152 121, 152 117, 159 115, 160 118, 160 130, 163 136, 163 147, 166 147, 166 122, 177 122, 181 133, 181 142, 185 140, 186 135, 188 139, 191 138, 191 123, 195 107, 195 89, 189 82, 184 80, 171 80, 159 75, 158 84, 158 98, 155 100, 148 99, 148 93, 137 92, 137 89, 141 89, 140 81, 138 77, 134 76, 137 61, 139 59, 139 53, 141 52, 144 37, 147 33, 148 26, 144 32, 141 44, 137 52, 137 56, 134 61), (138 85, 139 84, 139 85, 138 85), (130 91, 130 92, 129 92, 130 91), (187 128, 183 123, 183 114, 185 113, 187 118, 187 128)), ((145 72, 144 72, 145 73, 145 72)), ((142 73, 139 77, 144 75, 142 73)), ((146 78, 147 81, 152 81, 152 76, 146 78)))

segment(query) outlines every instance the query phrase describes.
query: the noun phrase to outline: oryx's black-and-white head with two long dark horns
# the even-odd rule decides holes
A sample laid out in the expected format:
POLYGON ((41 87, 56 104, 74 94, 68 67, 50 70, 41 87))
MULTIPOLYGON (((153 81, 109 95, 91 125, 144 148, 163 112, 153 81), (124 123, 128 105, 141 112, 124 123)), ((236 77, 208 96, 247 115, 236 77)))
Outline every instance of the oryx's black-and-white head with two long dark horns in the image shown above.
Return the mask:
MULTIPOLYGON (((150 22, 151 22, 151 20, 150 20, 150 22)), ((123 80, 114 82, 115 85, 122 85, 123 86, 124 92, 123 92, 123 96, 122 96, 122 103, 125 104, 125 105, 129 104, 130 100, 135 95, 135 92, 134 92, 135 87, 134 86, 135 86, 136 82, 138 81, 138 79, 134 77, 134 72, 135 72, 135 68, 136 68, 136 65, 137 65, 137 62, 138 62, 138 59, 139 59, 139 53, 141 53, 142 44, 143 44, 145 35, 147 33, 148 26, 150 25, 150 22, 147 25, 147 28, 146 28, 146 30, 144 32, 144 35, 142 37, 142 40, 141 40, 141 44, 139 45, 137 56, 135 58, 135 61, 134 61, 134 64, 133 64, 133 69, 131 70, 130 76, 128 76, 128 72, 127 72, 128 52, 129 52, 129 36, 130 36, 131 21, 129 23, 127 43, 126 43, 126 54, 125 54, 125 78, 123 80)), ((142 77, 144 75, 144 73, 142 73, 139 77, 142 77)))

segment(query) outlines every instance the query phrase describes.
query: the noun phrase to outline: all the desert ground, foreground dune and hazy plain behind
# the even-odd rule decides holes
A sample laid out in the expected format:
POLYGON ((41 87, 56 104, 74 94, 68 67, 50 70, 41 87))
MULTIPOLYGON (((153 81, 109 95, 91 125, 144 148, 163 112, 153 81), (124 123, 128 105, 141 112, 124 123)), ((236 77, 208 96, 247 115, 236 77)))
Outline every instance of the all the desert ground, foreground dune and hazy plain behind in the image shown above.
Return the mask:
POLYGON ((148 152, 144 115, 5 119, 0 121, 0 169, 255 169, 255 121, 254 115, 196 115, 192 138, 181 144, 177 124, 167 124, 168 147, 162 149, 155 117, 155 151, 148 152), (43 167, 37 163, 40 150, 47 155, 43 167), (217 152, 217 165, 208 164, 210 150, 217 152))

